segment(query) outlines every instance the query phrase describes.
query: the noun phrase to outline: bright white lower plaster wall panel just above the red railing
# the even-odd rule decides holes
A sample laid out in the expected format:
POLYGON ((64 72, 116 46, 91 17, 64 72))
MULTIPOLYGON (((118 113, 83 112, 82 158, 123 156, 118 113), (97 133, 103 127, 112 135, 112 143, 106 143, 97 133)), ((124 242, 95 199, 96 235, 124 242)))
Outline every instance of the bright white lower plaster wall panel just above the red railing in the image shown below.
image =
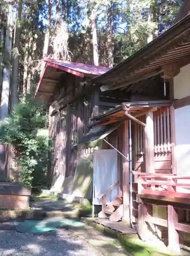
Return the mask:
MULTIPOLYGON (((190 176, 190 105, 174 111, 177 175, 190 176)), ((180 180, 189 183, 189 180, 180 180)))

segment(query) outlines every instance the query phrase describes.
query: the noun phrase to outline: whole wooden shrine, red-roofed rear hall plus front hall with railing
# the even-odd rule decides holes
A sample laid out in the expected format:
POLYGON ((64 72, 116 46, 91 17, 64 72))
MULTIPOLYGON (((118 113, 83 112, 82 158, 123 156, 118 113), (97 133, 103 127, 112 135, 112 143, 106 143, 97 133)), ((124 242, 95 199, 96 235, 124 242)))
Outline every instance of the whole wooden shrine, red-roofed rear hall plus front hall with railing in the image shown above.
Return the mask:
POLYGON ((190 14, 113 69, 46 59, 35 94, 50 109, 50 185, 94 151, 80 144, 103 139, 118 153, 118 181, 99 217, 137 224, 141 237, 149 223, 177 252, 190 233, 189 24, 190 14))

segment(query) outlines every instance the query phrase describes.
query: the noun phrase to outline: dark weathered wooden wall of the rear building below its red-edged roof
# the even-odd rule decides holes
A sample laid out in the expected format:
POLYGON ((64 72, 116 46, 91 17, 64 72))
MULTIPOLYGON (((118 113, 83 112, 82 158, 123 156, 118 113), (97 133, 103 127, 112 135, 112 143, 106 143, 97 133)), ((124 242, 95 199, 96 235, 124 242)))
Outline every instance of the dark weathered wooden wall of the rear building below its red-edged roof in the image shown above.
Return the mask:
MULTIPOLYGON (((50 108, 52 109, 52 108, 50 108)), ((52 138, 53 152, 47 177, 51 186, 54 177, 74 176, 77 158, 80 154, 92 153, 93 148, 74 147, 88 132, 91 117, 99 113, 99 91, 84 94, 58 110, 49 121, 49 134, 52 138)))

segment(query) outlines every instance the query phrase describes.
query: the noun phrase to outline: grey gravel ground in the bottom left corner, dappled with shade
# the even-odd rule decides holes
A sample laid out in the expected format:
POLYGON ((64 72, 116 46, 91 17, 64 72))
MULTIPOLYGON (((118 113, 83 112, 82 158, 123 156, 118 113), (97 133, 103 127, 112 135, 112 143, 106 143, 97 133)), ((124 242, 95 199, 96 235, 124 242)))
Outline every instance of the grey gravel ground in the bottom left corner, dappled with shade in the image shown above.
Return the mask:
POLYGON ((102 256, 72 231, 58 229, 43 234, 0 230, 0 256, 102 256))

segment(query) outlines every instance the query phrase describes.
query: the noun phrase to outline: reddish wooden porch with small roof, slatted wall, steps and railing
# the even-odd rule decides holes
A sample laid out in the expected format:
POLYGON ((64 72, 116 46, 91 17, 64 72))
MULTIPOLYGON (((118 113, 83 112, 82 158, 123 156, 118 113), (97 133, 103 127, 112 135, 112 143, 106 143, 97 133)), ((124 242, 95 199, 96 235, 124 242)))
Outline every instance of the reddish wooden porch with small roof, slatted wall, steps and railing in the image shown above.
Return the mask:
MULTIPOLYGON (((189 209, 189 184, 177 183, 175 159, 174 108, 171 101, 128 102, 118 108, 92 119, 92 125, 120 123, 116 131, 106 138, 110 148, 118 153, 118 198, 106 204, 103 195, 100 218, 125 223, 138 223, 138 232, 146 233, 145 222, 168 228, 169 246, 177 245, 179 237, 176 230, 189 232, 188 213, 176 209, 189 209), (130 127, 131 126, 131 127, 130 127), (129 131, 131 129, 131 132, 129 131), (182 189, 179 192, 179 189, 182 189), (187 194, 185 194, 187 193, 187 194), (118 200, 119 199, 119 200, 118 200), (155 216, 154 205, 167 207, 168 219, 155 216), (115 206, 121 207, 120 211, 115 206), (115 212, 117 211, 117 214, 115 212), (174 236, 175 234, 175 236, 174 236)), ((114 184, 115 185, 115 184, 114 184)), ((111 187, 112 188, 112 187, 111 187)), ((110 188, 110 189, 111 189, 110 188)))

